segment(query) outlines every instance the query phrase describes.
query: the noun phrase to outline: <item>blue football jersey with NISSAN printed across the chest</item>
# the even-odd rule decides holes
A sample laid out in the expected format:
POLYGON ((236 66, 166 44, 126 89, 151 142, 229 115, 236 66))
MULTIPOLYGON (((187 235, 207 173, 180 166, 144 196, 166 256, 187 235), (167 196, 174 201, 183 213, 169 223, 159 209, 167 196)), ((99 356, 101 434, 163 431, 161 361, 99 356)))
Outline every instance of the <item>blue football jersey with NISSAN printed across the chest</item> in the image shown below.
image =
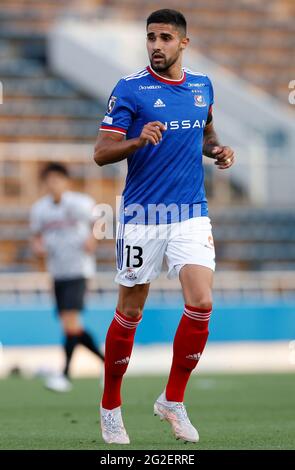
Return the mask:
POLYGON ((210 79, 187 68, 180 80, 147 67, 118 82, 101 130, 132 139, 148 122, 166 126, 158 145, 149 143, 128 156, 121 222, 173 223, 208 215, 202 148, 212 104, 210 79))

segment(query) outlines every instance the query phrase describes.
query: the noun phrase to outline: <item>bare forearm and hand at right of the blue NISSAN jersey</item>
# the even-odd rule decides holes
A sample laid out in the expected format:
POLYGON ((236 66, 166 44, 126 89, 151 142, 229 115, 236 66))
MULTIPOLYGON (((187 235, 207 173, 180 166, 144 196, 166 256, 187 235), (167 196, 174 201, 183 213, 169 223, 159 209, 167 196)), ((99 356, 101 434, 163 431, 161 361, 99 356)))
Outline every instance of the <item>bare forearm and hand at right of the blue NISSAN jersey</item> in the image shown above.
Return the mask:
POLYGON ((214 158, 216 160, 215 165, 217 165, 220 170, 230 168, 235 159, 234 151, 230 147, 223 146, 219 143, 213 125, 212 114, 209 114, 207 125, 204 129, 203 155, 208 158, 214 158))

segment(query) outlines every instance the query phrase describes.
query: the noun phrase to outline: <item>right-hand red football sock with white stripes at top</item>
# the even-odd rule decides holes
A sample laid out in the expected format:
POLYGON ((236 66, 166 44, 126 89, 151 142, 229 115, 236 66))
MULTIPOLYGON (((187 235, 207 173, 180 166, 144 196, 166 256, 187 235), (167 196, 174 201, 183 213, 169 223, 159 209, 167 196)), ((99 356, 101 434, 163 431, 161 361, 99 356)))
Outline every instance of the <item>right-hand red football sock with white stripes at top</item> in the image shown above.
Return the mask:
POLYGON ((173 360, 166 387, 168 401, 183 402, 185 388, 208 338, 211 309, 185 305, 174 343, 173 360))

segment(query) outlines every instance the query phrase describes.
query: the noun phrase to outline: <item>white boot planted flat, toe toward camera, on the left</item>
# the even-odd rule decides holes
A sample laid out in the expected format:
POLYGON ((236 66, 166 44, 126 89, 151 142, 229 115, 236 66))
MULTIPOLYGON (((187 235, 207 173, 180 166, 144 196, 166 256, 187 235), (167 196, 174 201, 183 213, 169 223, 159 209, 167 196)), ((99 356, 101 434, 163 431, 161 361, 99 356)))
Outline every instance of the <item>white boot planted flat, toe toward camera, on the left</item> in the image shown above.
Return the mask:
POLYGON ((103 440, 107 444, 130 444, 120 406, 113 410, 106 410, 100 406, 100 425, 103 440))

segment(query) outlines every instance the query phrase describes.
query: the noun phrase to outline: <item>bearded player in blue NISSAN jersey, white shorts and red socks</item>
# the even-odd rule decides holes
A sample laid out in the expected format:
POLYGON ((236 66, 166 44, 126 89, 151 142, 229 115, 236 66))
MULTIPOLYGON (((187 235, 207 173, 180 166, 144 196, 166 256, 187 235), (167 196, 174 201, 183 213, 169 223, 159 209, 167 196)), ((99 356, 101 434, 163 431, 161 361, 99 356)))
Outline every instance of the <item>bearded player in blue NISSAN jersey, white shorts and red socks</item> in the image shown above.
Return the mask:
POLYGON ((117 232, 119 299, 106 337, 100 413, 107 443, 128 444, 120 388, 150 282, 165 258, 178 276, 185 306, 173 344, 168 382, 154 404, 176 438, 197 442, 183 404, 192 370, 208 337, 214 244, 204 189, 202 155, 225 170, 234 161, 213 127, 213 88, 203 73, 182 67, 189 44, 186 20, 175 10, 147 19, 150 65, 122 78, 113 92, 95 146, 102 166, 127 158, 128 175, 117 232))

